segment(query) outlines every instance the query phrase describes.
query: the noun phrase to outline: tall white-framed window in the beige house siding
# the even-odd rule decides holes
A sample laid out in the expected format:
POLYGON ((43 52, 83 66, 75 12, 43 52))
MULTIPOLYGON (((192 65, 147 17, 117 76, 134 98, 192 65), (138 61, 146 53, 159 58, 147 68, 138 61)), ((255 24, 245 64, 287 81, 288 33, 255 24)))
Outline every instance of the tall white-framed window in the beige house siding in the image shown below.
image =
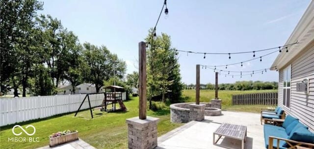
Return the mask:
POLYGON ((284 88, 283 88, 283 104, 290 108, 290 90, 291 90, 291 65, 284 69, 284 88))

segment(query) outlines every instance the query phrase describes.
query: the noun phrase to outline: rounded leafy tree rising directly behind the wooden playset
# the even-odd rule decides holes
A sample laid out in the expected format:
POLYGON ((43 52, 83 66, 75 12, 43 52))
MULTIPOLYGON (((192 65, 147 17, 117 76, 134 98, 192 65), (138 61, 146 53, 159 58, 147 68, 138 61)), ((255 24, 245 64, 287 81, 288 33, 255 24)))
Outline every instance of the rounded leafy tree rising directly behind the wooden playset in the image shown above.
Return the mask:
POLYGON ((89 68, 83 79, 95 84, 97 93, 104 86, 104 81, 108 81, 114 75, 114 69, 118 78, 124 76, 126 63, 118 59, 116 54, 111 54, 105 46, 97 47, 84 43, 83 47, 83 58, 89 68))

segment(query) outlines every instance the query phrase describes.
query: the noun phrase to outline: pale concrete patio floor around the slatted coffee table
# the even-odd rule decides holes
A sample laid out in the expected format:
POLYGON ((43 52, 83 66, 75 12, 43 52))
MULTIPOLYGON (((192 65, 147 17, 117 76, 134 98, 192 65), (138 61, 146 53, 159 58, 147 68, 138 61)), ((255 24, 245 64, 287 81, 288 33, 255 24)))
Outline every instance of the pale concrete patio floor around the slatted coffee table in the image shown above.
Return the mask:
MULTIPOLYGON (((260 114, 223 111, 221 116, 206 116, 202 122, 191 121, 158 137, 157 149, 226 149, 213 145, 213 132, 222 123, 247 126, 244 149, 265 149, 260 114)), ((217 137, 216 137, 217 138, 217 137)), ((241 149, 241 141, 224 138, 217 144, 241 149)))

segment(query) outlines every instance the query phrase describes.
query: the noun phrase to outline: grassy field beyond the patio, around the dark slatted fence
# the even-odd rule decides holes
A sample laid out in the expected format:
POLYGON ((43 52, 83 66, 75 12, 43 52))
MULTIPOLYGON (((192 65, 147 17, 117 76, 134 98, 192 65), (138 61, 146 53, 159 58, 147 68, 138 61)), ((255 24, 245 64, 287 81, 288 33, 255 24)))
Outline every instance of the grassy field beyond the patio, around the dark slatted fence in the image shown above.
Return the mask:
MULTIPOLYGON (((268 106, 264 105, 235 105, 231 106, 232 95, 235 94, 248 94, 248 93, 261 93, 261 92, 277 92, 277 90, 252 90, 252 91, 219 91, 218 97, 222 99, 222 110, 228 111, 243 111, 243 112, 260 112, 261 108, 268 106)), ((187 102, 195 102, 195 90, 184 90, 183 97, 187 99, 187 102)), ((214 90, 201 90, 200 101, 210 102, 215 98, 214 90)))

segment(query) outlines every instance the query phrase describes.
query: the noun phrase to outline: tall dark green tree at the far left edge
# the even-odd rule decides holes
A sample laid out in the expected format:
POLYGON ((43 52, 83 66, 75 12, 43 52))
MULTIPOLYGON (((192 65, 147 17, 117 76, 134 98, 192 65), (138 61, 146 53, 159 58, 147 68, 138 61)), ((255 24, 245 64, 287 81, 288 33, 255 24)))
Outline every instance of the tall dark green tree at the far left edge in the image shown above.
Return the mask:
POLYGON ((26 96, 27 79, 31 66, 38 60, 38 31, 35 29, 36 11, 41 10, 42 2, 37 0, 1 0, 0 4, 0 87, 2 82, 10 82, 14 96, 23 85, 26 96))

